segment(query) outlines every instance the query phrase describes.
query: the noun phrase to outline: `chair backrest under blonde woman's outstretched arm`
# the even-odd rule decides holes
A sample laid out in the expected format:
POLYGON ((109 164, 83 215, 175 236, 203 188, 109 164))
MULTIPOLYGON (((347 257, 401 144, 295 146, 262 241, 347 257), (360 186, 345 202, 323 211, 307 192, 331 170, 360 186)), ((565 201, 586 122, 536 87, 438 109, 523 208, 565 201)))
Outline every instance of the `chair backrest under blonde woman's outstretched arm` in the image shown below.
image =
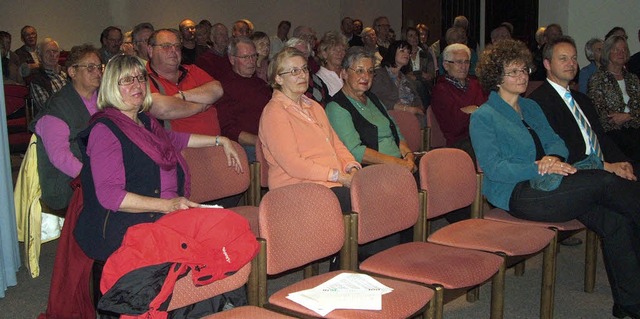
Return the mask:
POLYGON ((240 194, 249 188, 247 154, 240 144, 232 143, 244 173, 239 174, 227 165, 227 157, 221 146, 186 148, 182 151, 191 172, 190 200, 204 203, 240 194))

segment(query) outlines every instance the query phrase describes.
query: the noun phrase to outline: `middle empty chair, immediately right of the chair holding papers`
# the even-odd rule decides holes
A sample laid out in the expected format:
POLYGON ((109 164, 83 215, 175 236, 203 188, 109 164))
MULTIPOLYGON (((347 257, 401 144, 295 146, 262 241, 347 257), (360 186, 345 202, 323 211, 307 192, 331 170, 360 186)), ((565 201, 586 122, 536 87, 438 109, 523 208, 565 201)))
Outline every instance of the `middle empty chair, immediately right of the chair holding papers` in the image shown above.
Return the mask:
MULTIPOLYGON (((349 260, 353 268, 357 267, 358 245, 412 227, 420 216, 415 179, 399 165, 370 165, 356 173, 351 204, 354 222, 349 260)), ((414 239, 420 237, 414 234, 414 239)), ((504 259, 496 254, 414 241, 376 253, 360 263, 359 269, 432 287, 436 291, 432 318, 442 318, 445 290, 464 291, 492 279, 491 318, 502 318, 504 259)))

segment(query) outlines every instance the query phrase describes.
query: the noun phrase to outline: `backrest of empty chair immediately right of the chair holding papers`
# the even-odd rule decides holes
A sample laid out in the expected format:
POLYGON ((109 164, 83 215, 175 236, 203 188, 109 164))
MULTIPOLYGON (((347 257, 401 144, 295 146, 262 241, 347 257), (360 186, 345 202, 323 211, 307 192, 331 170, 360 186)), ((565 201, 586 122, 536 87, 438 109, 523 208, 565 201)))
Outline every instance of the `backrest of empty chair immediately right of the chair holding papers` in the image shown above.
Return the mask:
POLYGON ((353 176, 351 207, 358 214, 358 244, 397 233, 418 220, 416 181, 400 165, 369 165, 353 176))

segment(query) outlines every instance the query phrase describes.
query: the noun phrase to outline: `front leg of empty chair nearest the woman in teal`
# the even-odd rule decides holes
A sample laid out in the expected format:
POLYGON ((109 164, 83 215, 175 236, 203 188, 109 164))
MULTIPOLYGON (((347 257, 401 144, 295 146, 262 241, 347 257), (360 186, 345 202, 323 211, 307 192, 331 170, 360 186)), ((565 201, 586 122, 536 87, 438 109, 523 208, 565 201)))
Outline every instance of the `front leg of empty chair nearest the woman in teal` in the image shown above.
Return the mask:
POLYGON ((553 318, 556 282, 556 249, 558 236, 553 237, 542 257, 542 289, 540 292, 540 318, 553 318))

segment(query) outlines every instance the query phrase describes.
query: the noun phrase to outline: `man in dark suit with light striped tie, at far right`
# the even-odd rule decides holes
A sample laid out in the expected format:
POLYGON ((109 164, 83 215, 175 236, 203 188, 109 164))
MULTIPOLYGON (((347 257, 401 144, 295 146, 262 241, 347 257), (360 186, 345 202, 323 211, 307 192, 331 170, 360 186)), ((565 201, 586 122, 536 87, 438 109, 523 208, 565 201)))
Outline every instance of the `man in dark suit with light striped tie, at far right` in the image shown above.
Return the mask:
MULTIPOLYGON (((569 88, 569 82, 578 70, 573 39, 560 37, 547 43, 543 58, 547 79, 529 95, 529 98, 540 104, 549 124, 564 140, 569 149, 566 162, 574 164, 591 153, 596 155, 601 151, 604 169, 628 180, 620 183, 621 187, 637 189, 632 165, 604 133, 589 98, 569 88), (570 90, 572 99, 566 96, 567 90, 570 90), (578 124, 578 117, 574 116, 572 111, 574 106, 586 117, 588 123, 585 125, 589 125, 588 128, 578 124), (597 138, 591 138, 593 135, 588 133, 590 130, 597 138), (594 140, 598 144, 595 144, 594 140)), ((619 189, 610 191, 616 192, 619 189)), ((629 217, 616 213, 615 209, 604 206, 593 207, 578 219, 602 238, 603 260, 614 300, 613 315, 617 318, 640 318, 640 287, 637 283, 632 283, 632 278, 640 271, 637 252, 640 239, 636 230, 637 224, 629 217)))

